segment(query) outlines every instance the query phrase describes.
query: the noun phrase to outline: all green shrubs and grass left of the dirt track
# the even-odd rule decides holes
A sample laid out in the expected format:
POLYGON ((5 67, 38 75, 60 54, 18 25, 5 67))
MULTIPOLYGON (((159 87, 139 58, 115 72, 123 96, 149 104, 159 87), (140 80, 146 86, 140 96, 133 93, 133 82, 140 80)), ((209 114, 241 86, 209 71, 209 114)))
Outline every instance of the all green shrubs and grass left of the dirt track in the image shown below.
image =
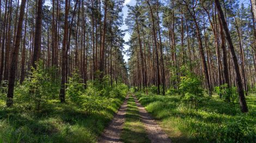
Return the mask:
POLYGON ((39 63, 25 82, 17 82, 10 108, 1 90, 0 142, 96 142, 128 90, 121 83, 111 88, 108 77, 84 85, 72 73, 66 102, 60 103, 58 78, 52 75, 39 63))

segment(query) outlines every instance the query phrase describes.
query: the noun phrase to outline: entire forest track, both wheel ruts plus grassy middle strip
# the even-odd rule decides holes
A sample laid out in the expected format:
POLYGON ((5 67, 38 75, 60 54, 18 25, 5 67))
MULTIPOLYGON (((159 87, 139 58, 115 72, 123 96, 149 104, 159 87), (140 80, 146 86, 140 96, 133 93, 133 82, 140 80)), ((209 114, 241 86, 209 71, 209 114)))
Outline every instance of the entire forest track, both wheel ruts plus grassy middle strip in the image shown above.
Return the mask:
POLYGON ((99 142, 171 142, 133 93, 126 99, 99 142))

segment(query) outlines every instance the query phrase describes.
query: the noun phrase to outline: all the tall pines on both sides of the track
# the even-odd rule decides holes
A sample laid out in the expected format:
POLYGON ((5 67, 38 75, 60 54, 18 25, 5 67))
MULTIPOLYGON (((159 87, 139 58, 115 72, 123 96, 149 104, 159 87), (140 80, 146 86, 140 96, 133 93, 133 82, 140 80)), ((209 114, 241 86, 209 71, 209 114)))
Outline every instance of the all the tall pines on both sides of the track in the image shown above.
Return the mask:
POLYGON ((216 86, 236 87, 242 111, 247 112, 243 91, 254 92, 256 83, 254 0, 248 7, 236 0, 219 5, 143 0, 128 5, 129 63, 123 58, 120 29, 123 0, 25 1, 26 18, 20 22, 23 2, 2 0, 0 5, 0 85, 8 87, 8 106, 13 103, 15 81, 22 84, 41 60, 42 67, 56 69, 51 77, 60 86, 61 102, 75 70, 84 87, 88 80, 109 75, 112 87, 124 82, 165 94, 178 90, 188 67, 201 77, 209 95, 216 86))

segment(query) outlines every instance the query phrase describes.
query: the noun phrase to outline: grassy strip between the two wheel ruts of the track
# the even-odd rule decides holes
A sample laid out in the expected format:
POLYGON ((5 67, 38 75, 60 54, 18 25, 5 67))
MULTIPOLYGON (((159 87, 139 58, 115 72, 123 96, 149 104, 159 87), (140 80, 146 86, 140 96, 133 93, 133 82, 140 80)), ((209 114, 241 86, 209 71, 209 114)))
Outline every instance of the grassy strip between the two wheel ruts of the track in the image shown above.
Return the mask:
POLYGON ((130 96, 127 103, 126 120, 124 123, 121 139, 124 142, 150 142, 147 138, 147 133, 140 122, 138 107, 135 100, 130 96))

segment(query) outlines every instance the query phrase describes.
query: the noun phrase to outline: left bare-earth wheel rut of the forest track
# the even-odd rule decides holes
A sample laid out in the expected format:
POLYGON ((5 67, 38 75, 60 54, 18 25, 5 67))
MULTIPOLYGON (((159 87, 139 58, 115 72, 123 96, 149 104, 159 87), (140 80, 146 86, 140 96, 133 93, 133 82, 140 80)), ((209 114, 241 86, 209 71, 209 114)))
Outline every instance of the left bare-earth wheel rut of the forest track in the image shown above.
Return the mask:
POLYGON ((109 123, 108 127, 104 129, 98 142, 121 142, 120 134, 125 122, 125 113, 128 99, 129 94, 126 96, 125 101, 117 114, 114 115, 113 120, 109 123))

